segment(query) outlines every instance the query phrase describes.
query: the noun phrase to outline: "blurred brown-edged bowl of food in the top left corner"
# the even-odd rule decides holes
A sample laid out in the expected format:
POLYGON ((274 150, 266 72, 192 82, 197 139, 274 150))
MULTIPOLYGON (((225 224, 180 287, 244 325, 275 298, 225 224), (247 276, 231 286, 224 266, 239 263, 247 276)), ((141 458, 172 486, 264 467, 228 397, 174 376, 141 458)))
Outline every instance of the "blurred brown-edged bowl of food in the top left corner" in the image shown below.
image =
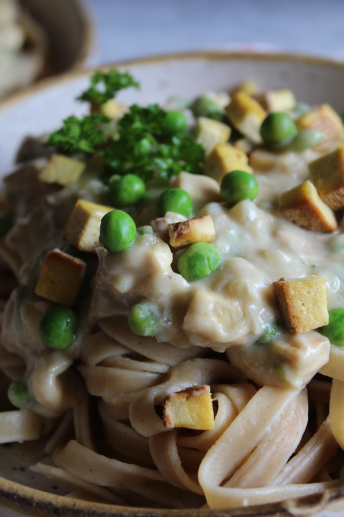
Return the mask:
POLYGON ((77 0, 0 0, 0 97, 83 64, 91 32, 77 0))

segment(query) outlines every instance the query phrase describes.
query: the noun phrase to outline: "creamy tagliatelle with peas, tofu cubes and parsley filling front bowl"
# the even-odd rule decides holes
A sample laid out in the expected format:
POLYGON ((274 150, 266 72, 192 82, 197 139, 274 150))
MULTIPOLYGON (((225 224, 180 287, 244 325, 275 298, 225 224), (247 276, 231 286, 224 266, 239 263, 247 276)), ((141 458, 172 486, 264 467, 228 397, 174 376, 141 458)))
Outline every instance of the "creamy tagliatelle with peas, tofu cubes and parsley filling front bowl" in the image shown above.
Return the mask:
POLYGON ((96 72, 0 200, 0 443, 75 497, 236 508, 344 482, 343 124, 288 89, 124 105, 96 72), (302 101, 303 99, 301 99, 302 101))

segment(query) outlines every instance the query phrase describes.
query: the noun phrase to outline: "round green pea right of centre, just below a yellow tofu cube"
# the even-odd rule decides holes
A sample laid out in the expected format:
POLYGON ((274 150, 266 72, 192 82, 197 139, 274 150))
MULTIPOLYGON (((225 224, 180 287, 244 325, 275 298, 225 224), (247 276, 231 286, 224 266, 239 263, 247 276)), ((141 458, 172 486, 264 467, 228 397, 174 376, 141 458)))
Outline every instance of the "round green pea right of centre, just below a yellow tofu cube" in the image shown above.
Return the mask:
POLYGON ((248 172, 228 172, 221 180, 220 194, 230 206, 234 206, 244 199, 254 200, 258 194, 258 183, 248 172))

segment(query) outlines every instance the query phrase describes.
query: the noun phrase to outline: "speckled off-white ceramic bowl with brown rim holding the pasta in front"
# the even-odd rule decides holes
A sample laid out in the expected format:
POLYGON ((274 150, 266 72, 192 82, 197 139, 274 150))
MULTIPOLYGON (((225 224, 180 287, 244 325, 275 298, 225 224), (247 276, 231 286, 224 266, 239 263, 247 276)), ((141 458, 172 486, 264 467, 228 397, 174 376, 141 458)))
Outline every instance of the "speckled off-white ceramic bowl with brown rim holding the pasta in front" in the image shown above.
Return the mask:
MULTIPOLYGON (((201 53, 170 55, 116 64, 130 70, 141 89, 128 90, 120 99, 132 103, 163 102, 170 95, 193 98, 208 90, 228 89, 245 79, 261 88, 287 87, 297 99, 311 104, 330 102, 344 108, 344 65, 329 60, 288 55, 201 53)), ((59 127, 61 119, 86 108, 74 99, 88 84, 89 72, 69 73, 0 102, 0 175, 13 169, 23 137, 59 127)), ((157 510, 116 507, 57 495, 63 489, 27 470, 25 458, 0 449, 0 504, 35 517, 228 517, 327 515, 344 508, 344 490, 280 504, 236 510, 157 510), (54 492, 54 493, 52 493, 54 492), (320 513, 319 513, 320 512, 320 513)), ((3 515, 3 513, 1 513, 3 515)))

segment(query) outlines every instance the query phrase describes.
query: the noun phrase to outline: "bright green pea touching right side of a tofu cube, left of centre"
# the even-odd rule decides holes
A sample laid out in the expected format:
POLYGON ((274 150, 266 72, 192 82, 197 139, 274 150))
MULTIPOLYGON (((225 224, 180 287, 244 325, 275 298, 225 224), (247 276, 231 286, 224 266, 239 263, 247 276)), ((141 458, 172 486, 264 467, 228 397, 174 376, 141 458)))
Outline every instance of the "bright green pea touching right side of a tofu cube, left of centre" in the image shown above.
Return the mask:
POLYGON ((134 220, 123 210, 111 210, 101 220, 99 242, 111 253, 131 246, 136 237, 134 220))

